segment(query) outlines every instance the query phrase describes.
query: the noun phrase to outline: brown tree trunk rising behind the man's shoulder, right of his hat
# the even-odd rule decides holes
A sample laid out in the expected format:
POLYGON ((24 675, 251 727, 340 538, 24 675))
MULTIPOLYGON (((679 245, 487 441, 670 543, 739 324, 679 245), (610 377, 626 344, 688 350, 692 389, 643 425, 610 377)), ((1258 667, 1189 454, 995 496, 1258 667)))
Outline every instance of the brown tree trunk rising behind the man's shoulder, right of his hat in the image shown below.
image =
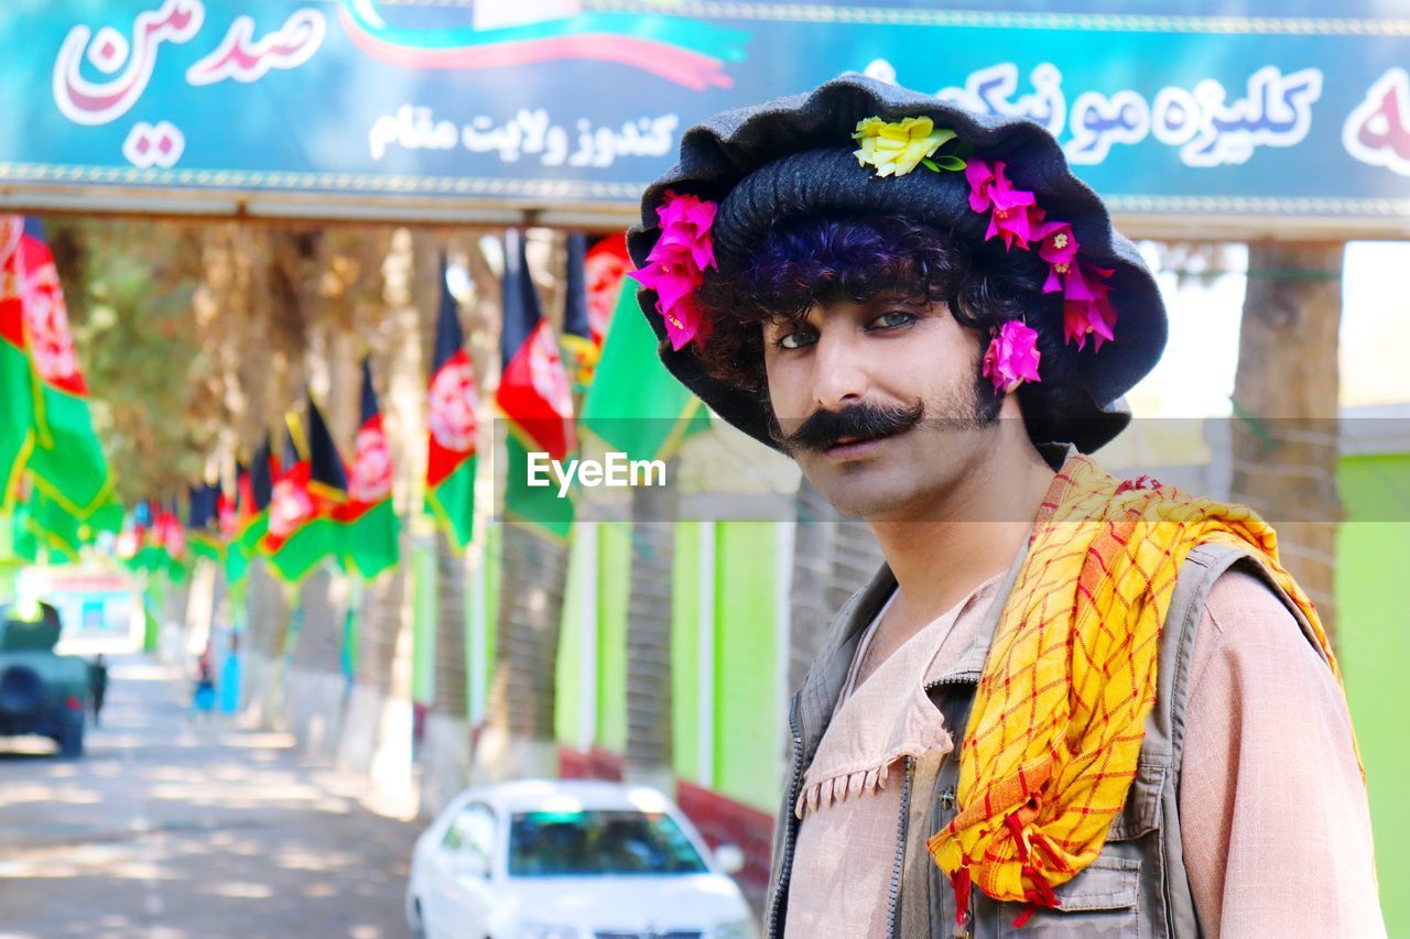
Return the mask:
POLYGON ((1283 565, 1332 634, 1345 245, 1255 243, 1234 381, 1232 498, 1277 529, 1283 565))

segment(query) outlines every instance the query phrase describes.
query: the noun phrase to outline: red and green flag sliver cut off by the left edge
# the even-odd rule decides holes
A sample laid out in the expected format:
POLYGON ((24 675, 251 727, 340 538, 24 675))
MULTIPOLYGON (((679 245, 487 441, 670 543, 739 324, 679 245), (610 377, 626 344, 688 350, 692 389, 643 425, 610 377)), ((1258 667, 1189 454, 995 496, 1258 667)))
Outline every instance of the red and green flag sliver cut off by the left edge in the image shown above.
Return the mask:
POLYGON ((14 505, 34 446, 34 379, 21 305, 21 216, 0 216, 0 512, 14 505))

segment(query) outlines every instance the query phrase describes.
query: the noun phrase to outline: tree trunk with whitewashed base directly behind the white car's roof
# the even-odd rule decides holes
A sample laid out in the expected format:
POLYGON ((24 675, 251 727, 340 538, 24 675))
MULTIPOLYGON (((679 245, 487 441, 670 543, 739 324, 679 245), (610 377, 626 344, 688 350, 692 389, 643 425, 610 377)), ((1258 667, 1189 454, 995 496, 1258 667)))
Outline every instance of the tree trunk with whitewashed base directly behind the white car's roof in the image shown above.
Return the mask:
POLYGON ((554 695, 568 548, 509 520, 502 544, 495 677, 475 782, 558 773, 554 695))

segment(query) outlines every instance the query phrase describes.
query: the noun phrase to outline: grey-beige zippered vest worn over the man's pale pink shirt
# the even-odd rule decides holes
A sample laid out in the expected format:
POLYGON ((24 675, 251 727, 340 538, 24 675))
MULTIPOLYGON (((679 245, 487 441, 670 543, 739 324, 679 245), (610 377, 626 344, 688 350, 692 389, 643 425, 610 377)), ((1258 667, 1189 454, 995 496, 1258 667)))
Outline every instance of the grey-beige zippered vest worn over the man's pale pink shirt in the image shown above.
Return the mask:
MULTIPOLYGON (((1026 544, 998 588, 1007 598, 1026 557, 1026 544)), ((1058 909, 1039 909, 1022 929, 1014 929, 1021 904, 995 902, 976 892, 971 916, 956 926, 955 895, 925 842, 956 812, 959 751, 945 757, 908 760, 904 818, 898 818, 905 843, 904 857, 893 873, 888 935, 916 938, 970 936, 1197 936, 1198 921, 1186 881, 1180 850, 1177 792, 1184 742, 1184 706, 1189 692, 1194 633, 1204 599, 1214 581, 1232 564, 1242 563, 1258 574, 1293 613, 1303 633, 1311 627, 1296 603, 1266 571, 1237 548, 1201 546, 1184 561, 1176 582, 1160 637, 1156 705, 1146 720, 1136 778, 1125 808, 1111 825, 1107 843, 1096 861, 1056 890, 1058 909)), ((794 804, 801 778, 826 730, 833 705, 843 687, 860 633, 895 588, 895 578, 883 565, 833 620, 822 653, 814 663, 804 688, 790 708, 794 742, 790 785, 776 821, 774 859, 766 904, 766 932, 783 936, 788 877, 797 839, 794 804)), ((974 688, 984 667, 1003 599, 990 608, 974 643, 939 682, 928 688, 948 728, 964 728, 974 688)), ((1316 646, 1316 642, 1313 643, 1316 646)))

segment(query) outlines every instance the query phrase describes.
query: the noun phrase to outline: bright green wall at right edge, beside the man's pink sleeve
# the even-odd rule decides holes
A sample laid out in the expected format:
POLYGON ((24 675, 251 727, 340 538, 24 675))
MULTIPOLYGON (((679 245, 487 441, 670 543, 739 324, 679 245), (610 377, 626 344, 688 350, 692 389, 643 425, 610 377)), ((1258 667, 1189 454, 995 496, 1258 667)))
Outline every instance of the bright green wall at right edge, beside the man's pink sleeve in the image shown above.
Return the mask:
POLYGON ((1410 936, 1410 455, 1345 457, 1338 488, 1347 520, 1337 537, 1337 656, 1361 743, 1376 839, 1386 929, 1410 936))

